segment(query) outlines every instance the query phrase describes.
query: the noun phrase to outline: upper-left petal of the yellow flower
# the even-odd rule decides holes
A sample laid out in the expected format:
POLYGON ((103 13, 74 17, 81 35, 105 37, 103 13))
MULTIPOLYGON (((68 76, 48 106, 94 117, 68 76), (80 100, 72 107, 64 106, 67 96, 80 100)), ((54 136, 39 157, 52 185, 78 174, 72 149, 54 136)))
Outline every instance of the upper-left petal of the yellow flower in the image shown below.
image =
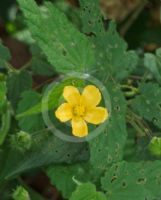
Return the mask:
POLYGON ((71 105, 76 105, 80 101, 79 90, 74 86, 65 86, 63 96, 64 99, 71 105))

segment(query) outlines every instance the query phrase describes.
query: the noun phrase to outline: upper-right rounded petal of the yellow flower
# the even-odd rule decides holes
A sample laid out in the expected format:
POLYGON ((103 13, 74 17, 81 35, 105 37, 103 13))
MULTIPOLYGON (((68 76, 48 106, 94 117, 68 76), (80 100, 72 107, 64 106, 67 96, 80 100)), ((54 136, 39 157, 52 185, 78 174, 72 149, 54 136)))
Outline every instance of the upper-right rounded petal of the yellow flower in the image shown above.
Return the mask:
POLYGON ((95 107, 101 101, 101 93, 94 85, 88 85, 82 93, 82 101, 86 106, 95 107))

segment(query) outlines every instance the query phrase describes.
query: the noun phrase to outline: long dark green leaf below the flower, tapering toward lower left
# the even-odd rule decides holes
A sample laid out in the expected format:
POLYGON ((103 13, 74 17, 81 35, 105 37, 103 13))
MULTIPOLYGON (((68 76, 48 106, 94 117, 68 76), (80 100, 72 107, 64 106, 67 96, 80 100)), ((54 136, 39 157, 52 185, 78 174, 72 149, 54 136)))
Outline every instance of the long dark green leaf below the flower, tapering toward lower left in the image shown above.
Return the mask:
POLYGON ((33 168, 89 159, 86 143, 65 142, 45 130, 31 136, 29 150, 22 152, 11 146, 1 152, 0 182, 33 168))

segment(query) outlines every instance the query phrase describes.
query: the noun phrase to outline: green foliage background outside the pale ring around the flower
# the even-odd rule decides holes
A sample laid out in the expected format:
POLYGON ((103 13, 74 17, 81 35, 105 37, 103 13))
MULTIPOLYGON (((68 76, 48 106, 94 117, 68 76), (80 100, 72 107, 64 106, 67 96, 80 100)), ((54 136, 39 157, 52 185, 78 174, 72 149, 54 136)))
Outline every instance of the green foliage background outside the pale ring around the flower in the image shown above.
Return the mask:
MULTIPOLYGON (((159 200, 160 2, 8 0, 0 16, 1 199, 159 200), (112 102, 104 132, 82 144, 41 115, 44 89, 73 70, 101 80, 112 102)), ((72 83, 52 91, 51 110, 72 83)))

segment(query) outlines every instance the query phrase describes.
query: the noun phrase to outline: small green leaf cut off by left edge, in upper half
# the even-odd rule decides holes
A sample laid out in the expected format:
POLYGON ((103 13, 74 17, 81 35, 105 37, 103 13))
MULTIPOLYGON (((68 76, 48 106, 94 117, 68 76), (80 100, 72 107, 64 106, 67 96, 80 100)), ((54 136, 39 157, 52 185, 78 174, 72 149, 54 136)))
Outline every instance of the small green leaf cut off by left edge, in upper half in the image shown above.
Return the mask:
POLYGON ((6 61, 9 61, 10 59, 11 55, 9 50, 0 42, 0 68, 5 68, 6 61))

